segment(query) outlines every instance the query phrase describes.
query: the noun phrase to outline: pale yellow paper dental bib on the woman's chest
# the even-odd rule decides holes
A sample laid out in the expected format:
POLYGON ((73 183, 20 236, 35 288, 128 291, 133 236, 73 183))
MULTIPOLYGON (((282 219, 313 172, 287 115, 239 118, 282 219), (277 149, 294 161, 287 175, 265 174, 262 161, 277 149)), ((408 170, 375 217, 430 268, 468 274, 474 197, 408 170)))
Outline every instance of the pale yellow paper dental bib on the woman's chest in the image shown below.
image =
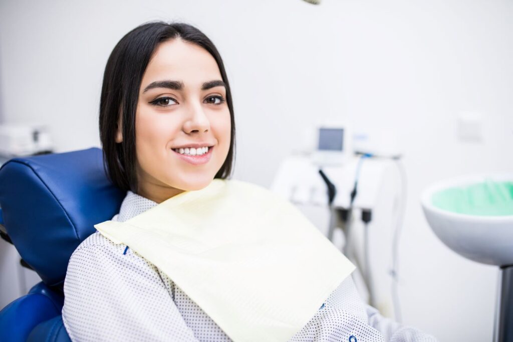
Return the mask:
POLYGON ((239 180, 94 227, 166 273, 235 342, 289 340, 354 270, 292 204, 239 180))

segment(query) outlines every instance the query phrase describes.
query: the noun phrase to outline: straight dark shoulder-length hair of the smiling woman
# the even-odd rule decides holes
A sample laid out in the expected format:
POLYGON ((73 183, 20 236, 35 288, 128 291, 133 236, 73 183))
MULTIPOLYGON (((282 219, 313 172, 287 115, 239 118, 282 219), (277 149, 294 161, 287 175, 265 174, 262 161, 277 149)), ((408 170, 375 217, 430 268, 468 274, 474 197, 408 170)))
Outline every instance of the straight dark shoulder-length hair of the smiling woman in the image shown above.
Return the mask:
POLYGON ((231 175, 235 145, 233 103, 226 71, 218 50, 197 28, 184 23, 151 22, 128 32, 112 50, 103 76, 100 99, 100 140, 105 170, 112 183, 123 190, 137 191, 135 169, 135 111, 144 71, 160 43, 180 37, 207 50, 218 64, 226 84, 226 102, 230 110, 231 139, 225 162, 214 178, 231 175), (123 142, 116 143, 117 122, 121 115, 123 142))

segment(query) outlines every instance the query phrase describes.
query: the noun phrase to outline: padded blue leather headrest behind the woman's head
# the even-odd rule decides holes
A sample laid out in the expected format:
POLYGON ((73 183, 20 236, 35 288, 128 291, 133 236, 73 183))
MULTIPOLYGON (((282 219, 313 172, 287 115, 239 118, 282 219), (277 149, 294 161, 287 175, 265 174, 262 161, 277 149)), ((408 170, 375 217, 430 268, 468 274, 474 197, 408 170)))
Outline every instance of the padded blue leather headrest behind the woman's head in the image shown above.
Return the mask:
POLYGON ((98 148, 13 158, 0 168, 5 229, 49 286, 62 285, 71 253, 119 212, 125 195, 109 182, 98 148))

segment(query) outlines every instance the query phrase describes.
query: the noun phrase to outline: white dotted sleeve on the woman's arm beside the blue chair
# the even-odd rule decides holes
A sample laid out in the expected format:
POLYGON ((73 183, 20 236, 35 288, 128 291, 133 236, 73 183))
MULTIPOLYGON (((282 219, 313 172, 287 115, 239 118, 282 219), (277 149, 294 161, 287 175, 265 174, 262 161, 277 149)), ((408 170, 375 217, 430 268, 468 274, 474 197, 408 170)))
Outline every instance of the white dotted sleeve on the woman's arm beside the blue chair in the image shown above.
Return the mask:
POLYGON ((123 245, 79 246, 64 283, 72 341, 198 341, 156 267, 123 245))

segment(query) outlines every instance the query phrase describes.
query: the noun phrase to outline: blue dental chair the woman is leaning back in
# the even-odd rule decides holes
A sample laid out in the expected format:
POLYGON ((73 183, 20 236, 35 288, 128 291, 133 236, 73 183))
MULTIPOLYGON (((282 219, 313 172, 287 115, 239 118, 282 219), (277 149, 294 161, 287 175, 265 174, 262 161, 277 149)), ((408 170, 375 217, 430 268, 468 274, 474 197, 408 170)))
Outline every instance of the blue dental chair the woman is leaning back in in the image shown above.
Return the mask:
POLYGON ((69 258, 125 195, 107 179, 98 148, 2 165, 0 232, 42 281, 0 311, 0 341, 70 341, 61 315, 69 258))

